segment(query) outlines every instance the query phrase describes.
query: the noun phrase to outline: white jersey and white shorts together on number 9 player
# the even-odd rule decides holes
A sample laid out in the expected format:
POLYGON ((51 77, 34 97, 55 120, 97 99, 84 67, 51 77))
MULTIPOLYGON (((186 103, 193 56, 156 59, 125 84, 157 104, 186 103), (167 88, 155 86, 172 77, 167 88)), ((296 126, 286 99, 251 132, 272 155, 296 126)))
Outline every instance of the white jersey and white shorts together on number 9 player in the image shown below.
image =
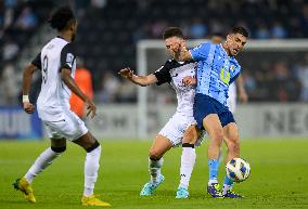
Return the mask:
POLYGON ((63 68, 74 78, 76 54, 72 43, 57 37, 49 41, 33 61, 41 69, 41 91, 37 101, 40 119, 50 139, 74 141, 88 132, 85 122, 69 110, 70 90, 61 78, 63 68))

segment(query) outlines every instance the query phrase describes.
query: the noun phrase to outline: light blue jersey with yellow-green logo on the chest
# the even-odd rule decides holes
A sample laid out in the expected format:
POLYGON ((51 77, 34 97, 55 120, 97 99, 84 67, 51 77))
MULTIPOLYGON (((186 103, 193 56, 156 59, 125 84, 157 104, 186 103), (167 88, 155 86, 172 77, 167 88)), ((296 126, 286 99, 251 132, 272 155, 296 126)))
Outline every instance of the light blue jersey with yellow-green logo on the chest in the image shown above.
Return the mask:
POLYGON ((228 89, 241 71, 233 56, 228 56, 221 44, 203 43, 190 50, 198 62, 196 93, 208 95, 227 106, 228 89))

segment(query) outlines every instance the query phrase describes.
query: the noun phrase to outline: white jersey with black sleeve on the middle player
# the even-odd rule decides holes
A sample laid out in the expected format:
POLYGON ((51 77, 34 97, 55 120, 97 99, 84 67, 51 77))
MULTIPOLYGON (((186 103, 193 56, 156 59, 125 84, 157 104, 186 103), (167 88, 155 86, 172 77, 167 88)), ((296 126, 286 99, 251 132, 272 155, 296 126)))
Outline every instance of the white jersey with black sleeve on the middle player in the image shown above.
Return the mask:
POLYGON ((183 78, 187 76, 195 77, 195 62, 177 62, 169 60, 157 69, 154 75, 157 78, 158 86, 168 82, 176 90, 178 99, 177 112, 185 116, 193 116, 193 102, 195 95, 195 87, 184 86, 183 78))

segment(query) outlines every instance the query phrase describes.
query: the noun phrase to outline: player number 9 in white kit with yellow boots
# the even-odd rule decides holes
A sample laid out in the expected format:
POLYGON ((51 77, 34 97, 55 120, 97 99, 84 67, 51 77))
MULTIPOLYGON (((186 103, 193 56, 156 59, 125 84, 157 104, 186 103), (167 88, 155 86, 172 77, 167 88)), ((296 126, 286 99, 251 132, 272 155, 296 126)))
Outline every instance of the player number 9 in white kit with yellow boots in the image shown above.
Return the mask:
POLYGON ((77 31, 77 22, 69 8, 56 10, 50 21, 59 36, 50 40, 25 68, 23 76, 23 105, 27 114, 35 110, 28 99, 33 74, 40 69, 42 74, 41 91, 37 101, 37 110, 43 121, 51 146, 36 159, 34 165, 13 185, 24 197, 36 203, 31 182, 43 169, 61 156, 66 149, 66 140, 72 141, 87 152, 85 161, 85 191, 81 198, 84 206, 111 206, 97 198, 93 194, 100 167, 101 145, 88 131, 84 121, 69 110, 69 97, 73 91, 86 102, 88 115, 95 116, 95 105, 80 91, 74 80, 76 70, 76 53, 73 41, 77 31))

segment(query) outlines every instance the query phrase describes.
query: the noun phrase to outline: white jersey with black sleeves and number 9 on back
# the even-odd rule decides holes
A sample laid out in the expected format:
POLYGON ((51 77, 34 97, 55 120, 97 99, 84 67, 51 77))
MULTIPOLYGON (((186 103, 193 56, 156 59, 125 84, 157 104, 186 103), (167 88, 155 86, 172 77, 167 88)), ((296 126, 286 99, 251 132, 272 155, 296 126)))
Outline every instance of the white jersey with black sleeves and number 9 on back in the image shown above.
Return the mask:
POLYGON ((61 70, 72 70, 74 78, 76 70, 76 55, 72 43, 56 37, 49 41, 33 64, 41 69, 42 83, 38 96, 37 107, 41 119, 52 121, 56 118, 56 110, 69 109, 70 90, 61 78, 61 70), (52 110, 53 109, 53 110, 52 110))

